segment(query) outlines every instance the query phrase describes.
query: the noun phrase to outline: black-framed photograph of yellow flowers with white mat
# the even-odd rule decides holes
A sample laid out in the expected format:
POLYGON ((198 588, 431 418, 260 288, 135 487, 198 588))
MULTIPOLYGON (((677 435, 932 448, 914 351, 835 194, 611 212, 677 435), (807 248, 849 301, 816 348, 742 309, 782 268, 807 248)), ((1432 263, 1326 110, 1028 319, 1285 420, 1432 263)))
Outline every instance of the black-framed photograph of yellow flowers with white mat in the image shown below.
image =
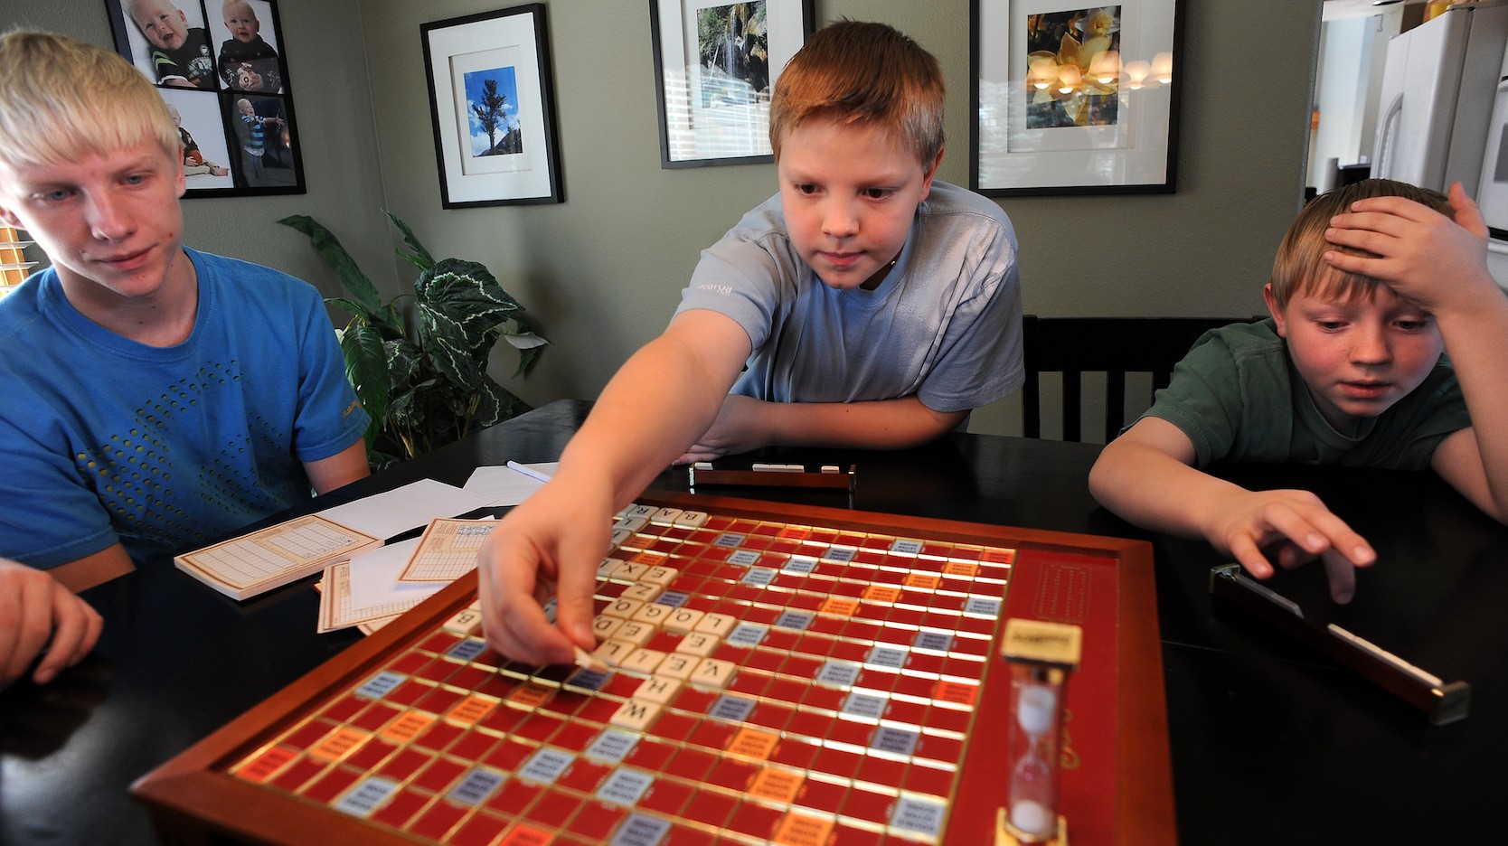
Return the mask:
POLYGON ((973 0, 974 190, 1173 193, 1182 15, 1182 0, 973 0))

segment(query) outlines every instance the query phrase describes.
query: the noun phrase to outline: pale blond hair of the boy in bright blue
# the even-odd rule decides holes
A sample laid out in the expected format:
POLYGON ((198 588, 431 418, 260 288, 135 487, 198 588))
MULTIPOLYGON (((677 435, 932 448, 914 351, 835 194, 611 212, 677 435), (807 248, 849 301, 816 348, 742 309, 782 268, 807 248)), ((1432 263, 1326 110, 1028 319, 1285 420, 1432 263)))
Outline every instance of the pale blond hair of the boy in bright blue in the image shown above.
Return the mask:
POLYGON ((145 139, 178 155, 167 104, 125 59, 62 35, 0 35, 0 163, 60 164, 145 139))

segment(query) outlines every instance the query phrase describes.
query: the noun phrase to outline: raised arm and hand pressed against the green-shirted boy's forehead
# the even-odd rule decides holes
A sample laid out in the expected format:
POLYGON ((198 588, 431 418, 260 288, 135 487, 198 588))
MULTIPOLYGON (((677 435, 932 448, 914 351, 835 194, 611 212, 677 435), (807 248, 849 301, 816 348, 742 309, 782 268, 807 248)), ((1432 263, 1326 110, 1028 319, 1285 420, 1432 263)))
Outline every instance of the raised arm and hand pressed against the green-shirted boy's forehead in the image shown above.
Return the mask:
POLYGON ((1461 184, 1449 219, 1402 198, 1371 198, 1332 219, 1326 238, 1378 258, 1326 253, 1387 284, 1434 315, 1472 427, 1446 437, 1433 466, 1493 519, 1508 523, 1508 297, 1487 271, 1487 225, 1461 184))

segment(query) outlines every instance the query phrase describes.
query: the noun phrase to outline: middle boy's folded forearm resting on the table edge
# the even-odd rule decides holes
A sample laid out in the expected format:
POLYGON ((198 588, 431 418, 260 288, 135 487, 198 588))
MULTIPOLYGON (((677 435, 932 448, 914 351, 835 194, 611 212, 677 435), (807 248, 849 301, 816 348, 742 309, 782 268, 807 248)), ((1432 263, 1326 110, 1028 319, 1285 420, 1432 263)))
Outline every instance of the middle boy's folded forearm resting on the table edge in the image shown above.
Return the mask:
POLYGON ((863 403, 765 403, 728 395, 716 422, 679 463, 748 452, 759 446, 905 449, 941 437, 968 412, 933 412, 915 397, 863 403))

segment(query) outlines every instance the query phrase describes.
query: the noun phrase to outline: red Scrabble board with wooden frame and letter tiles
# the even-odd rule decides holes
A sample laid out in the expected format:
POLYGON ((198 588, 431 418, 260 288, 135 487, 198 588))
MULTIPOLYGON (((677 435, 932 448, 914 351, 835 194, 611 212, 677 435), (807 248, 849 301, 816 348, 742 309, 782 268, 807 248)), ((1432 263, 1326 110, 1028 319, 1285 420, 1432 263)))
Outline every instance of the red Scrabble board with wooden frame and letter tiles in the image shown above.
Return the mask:
POLYGON ((1084 629, 1068 841, 1173 843, 1142 541, 647 493, 609 670, 487 648, 475 575, 143 777, 167 843, 989 844, 1007 617, 1084 629))

